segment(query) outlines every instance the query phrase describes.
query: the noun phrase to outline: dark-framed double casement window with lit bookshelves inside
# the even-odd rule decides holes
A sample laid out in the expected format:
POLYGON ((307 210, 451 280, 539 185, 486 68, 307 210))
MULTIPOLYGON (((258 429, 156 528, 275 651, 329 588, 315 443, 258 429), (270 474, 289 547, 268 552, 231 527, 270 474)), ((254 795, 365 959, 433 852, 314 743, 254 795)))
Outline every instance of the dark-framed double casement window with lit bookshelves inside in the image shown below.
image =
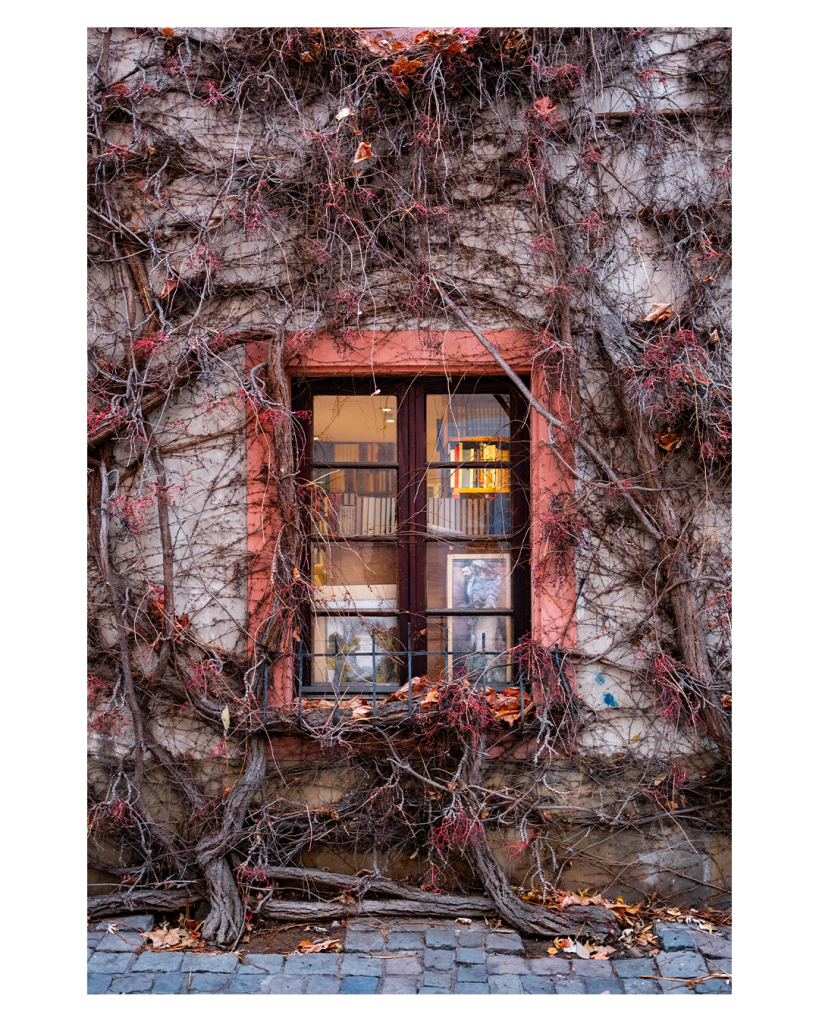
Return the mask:
POLYGON ((502 378, 294 382, 314 608, 307 693, 513 682, 529 628, 526 406, 502 378))

